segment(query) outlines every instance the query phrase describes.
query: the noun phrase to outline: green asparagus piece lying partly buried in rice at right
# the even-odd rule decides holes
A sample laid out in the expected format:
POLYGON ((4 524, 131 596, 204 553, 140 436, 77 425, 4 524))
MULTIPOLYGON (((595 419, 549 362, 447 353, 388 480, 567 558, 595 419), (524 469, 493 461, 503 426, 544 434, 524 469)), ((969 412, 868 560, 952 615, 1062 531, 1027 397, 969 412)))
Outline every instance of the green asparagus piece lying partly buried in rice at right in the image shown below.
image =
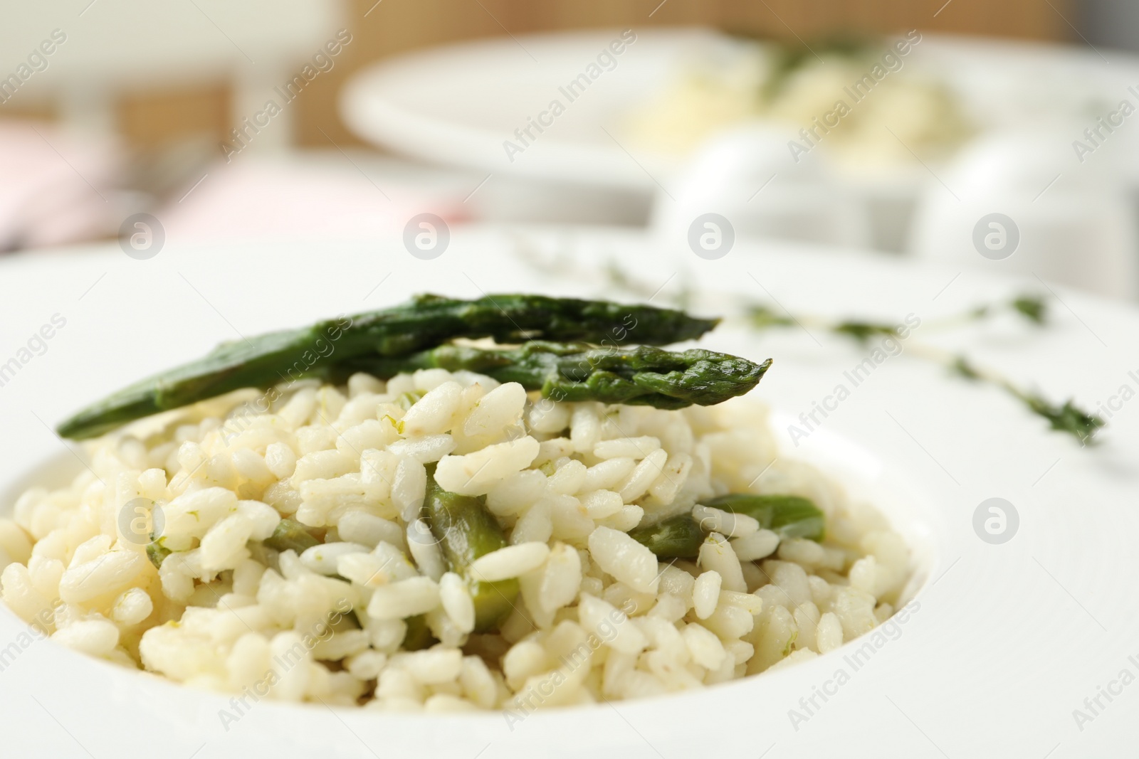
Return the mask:
MULTIPOLYGON (((818 506, 797 495, 751 495, 734 493, 706 501, 704 505, 747 514, 781 539, 805 537, 821 541, 826 520, 818 506)), ((629 533, 661 559, 695 559, 704 543, 704 530, 691 514, 680 514, 629 533)))

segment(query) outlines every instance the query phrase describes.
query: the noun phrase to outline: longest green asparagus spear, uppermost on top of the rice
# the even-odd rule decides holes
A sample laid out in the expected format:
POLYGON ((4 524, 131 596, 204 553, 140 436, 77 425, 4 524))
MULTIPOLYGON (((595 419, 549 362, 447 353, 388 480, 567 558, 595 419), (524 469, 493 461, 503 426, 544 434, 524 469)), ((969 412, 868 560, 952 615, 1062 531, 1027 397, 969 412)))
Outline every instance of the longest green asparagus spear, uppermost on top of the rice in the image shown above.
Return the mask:
POLYGON ((421 295, 393 308, 321 321, 220 345, 198 361, 144 379, 64 421, 59 435, 96 437, 134 419, 245 387, 327 379, 359 356, 403 356, 453 338, 532 338, 666 345, 695 339, 719 320, 604 300, 498 295, 456 300, 421 295))

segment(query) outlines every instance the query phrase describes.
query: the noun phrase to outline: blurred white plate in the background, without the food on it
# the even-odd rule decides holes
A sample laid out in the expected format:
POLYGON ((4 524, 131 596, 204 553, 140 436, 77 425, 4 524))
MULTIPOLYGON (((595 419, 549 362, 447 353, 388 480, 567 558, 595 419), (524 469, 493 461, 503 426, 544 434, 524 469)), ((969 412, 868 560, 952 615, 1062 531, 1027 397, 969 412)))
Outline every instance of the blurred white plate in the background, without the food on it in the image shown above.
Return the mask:
MULTIPOLYGON (((712 30, 638 30, 637 40, 572 102, 562 91, 620 30, 464 42, 374 64, 345 86, 341 109, 361 138, 386 148, 499 175, 655 192, 680 166, 639 150, 622 119, 661 89, 686 56, 728 44, 712 30), (566 104, 554 125, 513 160, 503 148, 550 100, 566 104)), ((1079 119, 1067 141, 1114 108, 1137 81, 1139 59, 1085 47, 926 34, 904 61, 932 69, 984 129, 1079 119), (1084 123, 1087 122, 1087 123, 1084 123)), ((885 196, 912 195, 920 166, 867 172, 851 181, 885 196)))

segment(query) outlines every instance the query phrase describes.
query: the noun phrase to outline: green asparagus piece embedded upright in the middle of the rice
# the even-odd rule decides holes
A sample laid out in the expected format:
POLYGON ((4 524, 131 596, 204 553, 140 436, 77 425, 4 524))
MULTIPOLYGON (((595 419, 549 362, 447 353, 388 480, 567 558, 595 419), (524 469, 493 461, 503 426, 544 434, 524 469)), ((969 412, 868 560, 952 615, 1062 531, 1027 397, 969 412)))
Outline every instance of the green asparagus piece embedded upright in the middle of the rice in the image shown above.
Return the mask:
MULTIPOLYGON (((467 577, 470 564, 482 555, 507 546, 506 535, 494 515, 486 510, 485 498, 457 495, 435 482, 434 464, 427 468, 427 495, 424 512, 432 535, 440 542, 443 558, 451 571, 467 577)), ((475 632, 494 629, 514 608, 518 580, 497 583, 470 581, 475 601, 475 632)))

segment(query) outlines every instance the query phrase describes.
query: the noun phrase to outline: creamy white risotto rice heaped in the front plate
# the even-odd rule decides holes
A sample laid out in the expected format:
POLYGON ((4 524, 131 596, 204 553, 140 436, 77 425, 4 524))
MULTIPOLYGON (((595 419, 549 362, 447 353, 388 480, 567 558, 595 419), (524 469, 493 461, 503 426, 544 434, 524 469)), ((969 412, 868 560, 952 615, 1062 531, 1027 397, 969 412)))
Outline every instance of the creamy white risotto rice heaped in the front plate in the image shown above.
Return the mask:
POLYGON ((777 457, 765 409, 744 398, 662 411, 552 403, 469 372, 357 374, 238 391, 85 446, 90 470, 0 519, 3 601, 66 646, 221 692, 527 712, 702 687, 869 632, 909 576, 883 518, 777 457), (473 632, 470 579, 420 518, 435 462, 508 536, 468 572, 519 581, 495 633, 473 632), (700 505, 747 492, 811 498, 826 541, 700 505), (628 535, 694 506, 710 531, 696 561, 628 535), (323 543, 267 547, 282 518, 323 543), (409 651, 417 620, 437 642, 409 651))

